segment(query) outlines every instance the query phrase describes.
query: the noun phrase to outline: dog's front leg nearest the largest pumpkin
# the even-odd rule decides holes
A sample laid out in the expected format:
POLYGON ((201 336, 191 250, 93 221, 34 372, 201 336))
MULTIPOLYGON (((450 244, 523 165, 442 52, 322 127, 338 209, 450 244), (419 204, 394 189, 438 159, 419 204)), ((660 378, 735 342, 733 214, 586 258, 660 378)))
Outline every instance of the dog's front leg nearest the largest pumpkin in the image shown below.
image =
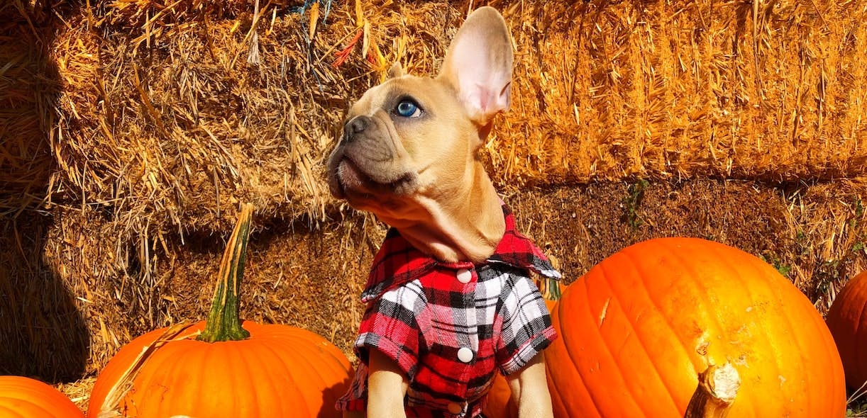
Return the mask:
POLYGON ((541 354, 505 379, 512 389, 512 399, 518 401, 519 418, 553 418, 551 392, 548 391, 541 354))

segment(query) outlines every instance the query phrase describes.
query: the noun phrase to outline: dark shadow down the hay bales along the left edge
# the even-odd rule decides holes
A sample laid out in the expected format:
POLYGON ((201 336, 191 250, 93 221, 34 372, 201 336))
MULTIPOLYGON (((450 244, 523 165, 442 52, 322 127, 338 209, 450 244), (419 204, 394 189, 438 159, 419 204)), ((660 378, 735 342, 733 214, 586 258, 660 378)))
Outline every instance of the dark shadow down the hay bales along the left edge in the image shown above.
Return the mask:
POLYGON ((36 211, 56 165, 62 80, 50 49, 55 11, 65 12, 43 3, 0 5, 0 374, 58 383, 85 372, 89 336, 75 296, 43 260, 52 219, 36 211))

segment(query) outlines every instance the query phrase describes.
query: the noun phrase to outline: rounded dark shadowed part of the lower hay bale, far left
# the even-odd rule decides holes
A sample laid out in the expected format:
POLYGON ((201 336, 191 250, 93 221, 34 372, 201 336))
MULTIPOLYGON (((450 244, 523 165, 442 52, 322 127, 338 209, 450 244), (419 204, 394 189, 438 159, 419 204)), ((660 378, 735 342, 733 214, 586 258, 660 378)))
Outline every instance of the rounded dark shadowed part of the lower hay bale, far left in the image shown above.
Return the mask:
POLYGON ((0 375, 68 382, 88 371, 83 293, 43 256, 52 219, 33 211, 0 218, 0 375))

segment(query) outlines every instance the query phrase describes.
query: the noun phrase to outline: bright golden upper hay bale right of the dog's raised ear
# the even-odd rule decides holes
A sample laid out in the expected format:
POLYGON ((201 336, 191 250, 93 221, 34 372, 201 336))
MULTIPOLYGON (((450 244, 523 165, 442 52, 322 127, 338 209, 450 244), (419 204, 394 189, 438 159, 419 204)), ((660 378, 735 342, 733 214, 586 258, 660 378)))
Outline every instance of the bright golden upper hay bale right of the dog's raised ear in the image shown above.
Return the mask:
POLYGON ((501 181, 865 172, 863 2, 500 3, 518 48, 488 144, 501 181))

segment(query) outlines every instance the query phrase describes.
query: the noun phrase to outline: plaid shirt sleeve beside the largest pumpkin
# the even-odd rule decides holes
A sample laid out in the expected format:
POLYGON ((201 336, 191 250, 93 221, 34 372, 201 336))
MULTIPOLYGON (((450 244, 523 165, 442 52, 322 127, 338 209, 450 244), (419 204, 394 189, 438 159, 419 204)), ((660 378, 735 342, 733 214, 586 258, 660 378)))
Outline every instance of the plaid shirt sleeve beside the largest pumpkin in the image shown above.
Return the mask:
POLYGON ((551 314, 538 287, 525 276, 512 276, 504 288, 497 363, 503 375, 521 370, 557 338, 551 314))

